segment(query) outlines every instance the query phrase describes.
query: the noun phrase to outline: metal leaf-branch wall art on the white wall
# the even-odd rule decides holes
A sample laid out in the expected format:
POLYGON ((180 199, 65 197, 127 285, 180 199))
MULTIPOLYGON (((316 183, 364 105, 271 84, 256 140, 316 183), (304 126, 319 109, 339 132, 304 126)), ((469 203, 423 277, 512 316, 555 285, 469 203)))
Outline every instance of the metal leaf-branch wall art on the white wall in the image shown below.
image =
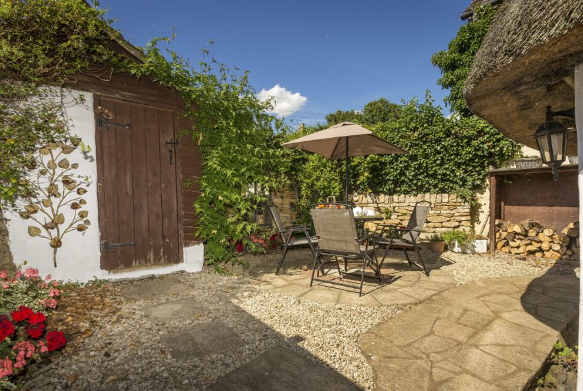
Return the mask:
POLYGON ((88 211, 82 210, 87 203, 82 198, 87 192, 83 187, 87 178, 76 175, 79 163, 67 159, 79 143, 80 139, 73 139, 72 145, 49 143, 39 148, 36 178, 29 180, 30 195, 19 211, 23 219, 36 223, 28 226, 28 235, 47 240, 53 248, 55 268, 64 235, 84 233, 91 226, 88 211), (66 213, 67 209, 73 209, 73 214, 66 213))

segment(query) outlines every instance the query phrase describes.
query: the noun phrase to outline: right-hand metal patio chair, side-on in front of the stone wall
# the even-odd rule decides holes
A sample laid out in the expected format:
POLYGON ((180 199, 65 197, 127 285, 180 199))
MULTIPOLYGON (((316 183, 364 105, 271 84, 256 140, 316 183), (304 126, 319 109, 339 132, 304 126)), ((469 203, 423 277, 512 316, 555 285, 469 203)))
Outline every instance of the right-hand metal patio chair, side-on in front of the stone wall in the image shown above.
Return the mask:
POLYGON ((426 276, 429 276, 429 270, 425 267, 425 262, 423 261, 423 257, 419 252, 419 246, 417 241, 419 239, 419 235, 423 226, 425 225, 425 220, 427 220, 427 215, 429 214, 429 209, 431 209, 431 202, 429 201, 419 201, 416 202, 415 208, 413 209, 413 213, 409 218, 409 222, 407 223, 407 227, 399 228, 394 224, 378 224, 378 226, 382 226, 383 230, 381 230, 381 236, 375 238, 375 241, 379 245, 386 245, 387 248, 383 253, 383 259, 381 259, 381 266, 385 262, 385 258, 387 257, 387 253, 391 248, 402 249, 405 252, 405 258, 407 258, 407 262, 409 266, 421 264, 423 267, 423 271, 425 272, 426 276), (386 229, 392 228, 392 233, 390 237, 383 237, 383 233, 386 229), (397 235, 402 235, 401 237, 397 237, 397 235), (414 250, 417 254, 418 261, 412 261, 409 258, 409 254, 407 254, 408 250, 414 250))

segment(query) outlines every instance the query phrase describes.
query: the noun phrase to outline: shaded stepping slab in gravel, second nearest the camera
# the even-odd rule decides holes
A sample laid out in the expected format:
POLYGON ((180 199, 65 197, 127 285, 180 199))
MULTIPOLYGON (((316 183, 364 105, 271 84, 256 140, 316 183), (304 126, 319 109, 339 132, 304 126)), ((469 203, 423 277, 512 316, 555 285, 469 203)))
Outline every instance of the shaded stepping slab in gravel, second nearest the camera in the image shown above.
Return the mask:
POLYGON ((162 342, 170 355, 180 361, 226 353, 245 346, 245 341, 221 322, 173 331, 165 335, 162 342))

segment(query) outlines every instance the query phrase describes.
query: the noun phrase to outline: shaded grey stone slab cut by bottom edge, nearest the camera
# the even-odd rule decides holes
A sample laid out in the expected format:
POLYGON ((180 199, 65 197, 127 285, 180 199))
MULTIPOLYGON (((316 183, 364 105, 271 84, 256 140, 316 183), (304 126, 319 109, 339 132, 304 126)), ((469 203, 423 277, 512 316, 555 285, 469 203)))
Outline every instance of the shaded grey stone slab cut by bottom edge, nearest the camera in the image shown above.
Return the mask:
POLYGON ((213 384, 211 390, 359 390, 346 377, 275 346, 213 384))

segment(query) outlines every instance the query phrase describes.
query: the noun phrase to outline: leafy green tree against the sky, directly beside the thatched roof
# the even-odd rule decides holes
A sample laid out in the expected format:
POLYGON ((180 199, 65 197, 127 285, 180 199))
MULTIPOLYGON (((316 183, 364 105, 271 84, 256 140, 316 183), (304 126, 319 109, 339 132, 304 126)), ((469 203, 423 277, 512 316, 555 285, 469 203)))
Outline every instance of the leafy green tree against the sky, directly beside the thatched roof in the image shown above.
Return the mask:
POLYGON ((455 38, 447 45, 447 50, 438 51, 431 56, 431 64, 442 71, 442 77, 437 83, 442 88, 449 89, 449 95, 444 98, 445 104, 462 117, 472 115, 464 99, 464 83, 495 13, 492 5, 477 7, 473 21, 460 27, 455 38))

